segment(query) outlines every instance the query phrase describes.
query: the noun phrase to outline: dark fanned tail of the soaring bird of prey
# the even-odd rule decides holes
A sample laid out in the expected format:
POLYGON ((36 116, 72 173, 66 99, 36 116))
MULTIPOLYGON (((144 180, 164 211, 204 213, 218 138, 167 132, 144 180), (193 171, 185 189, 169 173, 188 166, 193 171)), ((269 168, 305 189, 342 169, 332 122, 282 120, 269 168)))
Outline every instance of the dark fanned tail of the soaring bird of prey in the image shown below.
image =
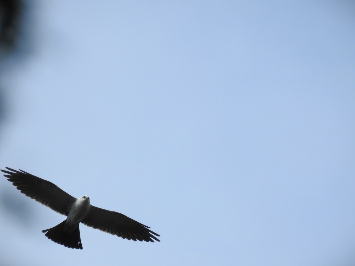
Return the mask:
POLYGON ((83 246, 81 245, 79 226, 71 233, 67 233, 67 231, 65 232, 64 226, 65 221, 53 228, 43 230, 42 232, 47 232, 45 236, 55 243, 72 249, 83 249, 83 246))

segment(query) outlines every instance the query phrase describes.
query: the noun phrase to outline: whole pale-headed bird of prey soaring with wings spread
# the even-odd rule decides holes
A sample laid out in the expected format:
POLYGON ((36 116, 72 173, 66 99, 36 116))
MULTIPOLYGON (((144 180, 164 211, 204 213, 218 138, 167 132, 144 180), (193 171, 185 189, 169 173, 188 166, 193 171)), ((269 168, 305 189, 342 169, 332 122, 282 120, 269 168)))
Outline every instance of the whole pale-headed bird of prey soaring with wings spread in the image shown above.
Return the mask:
POLYGON ((1 170, 6 173, 4 176, 23 194, 67 216, 66 220, 59 225, 42 231, 46 233, 45 236, 58 244, 68 248, 83 249, 79 231, 80 222, 124 239, 160 242, 155 237, 160 235, 149 230, 150 227, 118 212, 92 206, 88 196, 76 199, 47 180, 22 170, 17 171, 9 167, 6 169, 9 171, 1 170))

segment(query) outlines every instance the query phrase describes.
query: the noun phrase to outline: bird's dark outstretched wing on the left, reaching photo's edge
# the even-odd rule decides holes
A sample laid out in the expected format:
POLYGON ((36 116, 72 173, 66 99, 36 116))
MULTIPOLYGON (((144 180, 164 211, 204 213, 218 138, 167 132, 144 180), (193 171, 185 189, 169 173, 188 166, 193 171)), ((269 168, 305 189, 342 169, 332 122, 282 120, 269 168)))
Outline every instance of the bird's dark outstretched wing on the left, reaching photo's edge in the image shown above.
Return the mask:
POLYGON ((69 207, 76 201, 76 198, 47 180, 22 170, 16 171, 9 167, 6 167, 6 169, 12 172, 1 170, 7 173, 4 176, 23 194, 60 214, 68 216, 69 207))

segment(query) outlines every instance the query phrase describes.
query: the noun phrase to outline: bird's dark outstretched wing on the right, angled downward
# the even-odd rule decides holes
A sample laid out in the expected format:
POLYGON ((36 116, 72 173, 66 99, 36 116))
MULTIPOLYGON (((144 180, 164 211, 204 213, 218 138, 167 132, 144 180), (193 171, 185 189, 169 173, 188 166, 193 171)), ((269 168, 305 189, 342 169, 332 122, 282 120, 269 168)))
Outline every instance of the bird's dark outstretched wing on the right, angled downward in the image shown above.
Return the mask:
POLYGON ((127 238, 128 240, 154 242, 153 239, 155 239, 160 242, 160 240, 154 236, 160 237, 160 235, 149 230, 148 228, 150 227, 138 223, 126 215, 115 211, 100 209, 92 205, 89 213, 81 222, 84 225, 117 235, 118 237, 127 238))

